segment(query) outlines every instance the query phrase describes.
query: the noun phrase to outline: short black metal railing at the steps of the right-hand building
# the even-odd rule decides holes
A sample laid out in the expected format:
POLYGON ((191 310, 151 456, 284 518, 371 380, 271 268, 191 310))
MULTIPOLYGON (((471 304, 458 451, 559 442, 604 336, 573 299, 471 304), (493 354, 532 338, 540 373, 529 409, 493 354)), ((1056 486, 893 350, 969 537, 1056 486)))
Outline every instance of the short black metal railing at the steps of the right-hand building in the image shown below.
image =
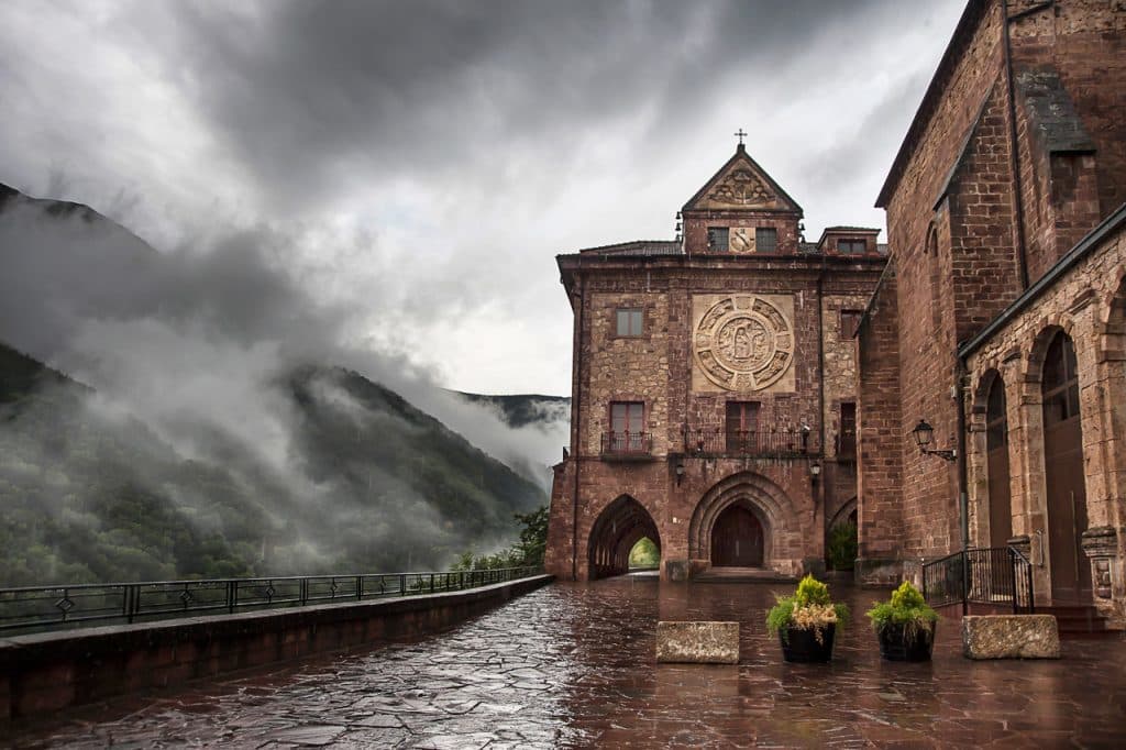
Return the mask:
POLYGON ((1033 566, 1013 547, 983 547, 932 560, 922 566, 922 595, 932 607, 971 604, 1031 614, 1033 566))

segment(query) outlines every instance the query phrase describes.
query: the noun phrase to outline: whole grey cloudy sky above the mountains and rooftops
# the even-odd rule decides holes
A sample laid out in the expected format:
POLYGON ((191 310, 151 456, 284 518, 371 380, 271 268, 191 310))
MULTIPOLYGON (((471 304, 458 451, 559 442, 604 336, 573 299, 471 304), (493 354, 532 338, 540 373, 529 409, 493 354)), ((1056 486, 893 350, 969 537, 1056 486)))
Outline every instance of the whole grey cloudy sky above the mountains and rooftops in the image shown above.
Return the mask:
POLYGON ((566 394, 555 255, 671 238, 739 127, 807 235, 883 226, 962 6, 5 0, 0 181, 169 253, 284 238, 348 347, 566 394))

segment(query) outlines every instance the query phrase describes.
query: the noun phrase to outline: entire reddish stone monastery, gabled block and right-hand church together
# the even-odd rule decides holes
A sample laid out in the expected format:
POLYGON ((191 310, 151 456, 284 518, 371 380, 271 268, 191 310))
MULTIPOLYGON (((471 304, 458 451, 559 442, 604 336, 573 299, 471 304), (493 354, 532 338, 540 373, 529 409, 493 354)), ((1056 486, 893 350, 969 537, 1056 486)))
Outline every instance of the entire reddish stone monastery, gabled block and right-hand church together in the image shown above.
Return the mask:
POLYGON ((876 205, 802 236, 740 145, 682 234, 558 257, 574 311, 563 578, 1012 546, 1037 605, 1126 624, 1126 2, 971 0, 876 205), (917 428, 931 426, 920 448, 917 428))

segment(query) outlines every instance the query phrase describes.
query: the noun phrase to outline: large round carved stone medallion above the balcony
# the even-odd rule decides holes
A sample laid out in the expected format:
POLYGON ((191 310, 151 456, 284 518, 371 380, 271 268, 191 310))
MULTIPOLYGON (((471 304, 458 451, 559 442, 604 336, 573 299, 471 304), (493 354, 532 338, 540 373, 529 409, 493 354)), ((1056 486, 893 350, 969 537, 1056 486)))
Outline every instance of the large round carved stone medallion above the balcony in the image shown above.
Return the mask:
POLYGON ((759 391, 776 383, 794 360, 794 330, 762 297, 735 294, 708 307, 692 332, 692 351, 705 377, 727 391, 759 391))

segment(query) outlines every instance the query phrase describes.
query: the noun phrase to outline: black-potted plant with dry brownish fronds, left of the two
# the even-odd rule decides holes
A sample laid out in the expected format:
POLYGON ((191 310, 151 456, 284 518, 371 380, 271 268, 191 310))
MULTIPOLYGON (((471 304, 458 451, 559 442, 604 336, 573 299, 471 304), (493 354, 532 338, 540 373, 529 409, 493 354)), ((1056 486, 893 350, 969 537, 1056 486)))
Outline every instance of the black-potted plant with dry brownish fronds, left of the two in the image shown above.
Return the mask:
POLYGON ((775 595, 767 613, 767 630, 778 635, 786 661, 829 661, 837 626, 844 626, 848 607, 833 604, 829 587, 806 575, 789 596, 775 595))

